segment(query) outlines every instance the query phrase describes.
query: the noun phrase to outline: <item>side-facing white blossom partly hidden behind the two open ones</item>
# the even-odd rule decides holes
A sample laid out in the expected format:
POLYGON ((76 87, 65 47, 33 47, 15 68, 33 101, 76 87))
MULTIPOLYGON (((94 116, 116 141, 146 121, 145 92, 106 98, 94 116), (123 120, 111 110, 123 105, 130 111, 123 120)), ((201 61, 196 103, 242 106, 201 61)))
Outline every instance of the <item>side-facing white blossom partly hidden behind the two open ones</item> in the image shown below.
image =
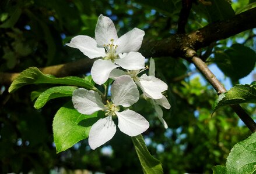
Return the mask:
POLYGON ((132 79, 134 79, 135 83, 143 91, 143 95, 146 98, 150 99, 150 102, 152 102, 157 116, 164 125, 164 128, 168 128, 166 121, 164 121, 163 119, 162 108, 159 107, 162 106, 166 109, 169 109, 171 107, 166 97, 162 94, 162 92, 167 90, 168 86, 162 80, 155 77, 155 61, 153 59, 150 59, 149 64, 149 75, 143 74, 141 75, 141 77, 138 77, 138 74, 148 69, 148 67, 143 68, 142 70, 128 70, 127 72, 115 69, 111 71, 110 78, 115 79, 117 77, 120 77, 121 75, 128 74, 132 79))

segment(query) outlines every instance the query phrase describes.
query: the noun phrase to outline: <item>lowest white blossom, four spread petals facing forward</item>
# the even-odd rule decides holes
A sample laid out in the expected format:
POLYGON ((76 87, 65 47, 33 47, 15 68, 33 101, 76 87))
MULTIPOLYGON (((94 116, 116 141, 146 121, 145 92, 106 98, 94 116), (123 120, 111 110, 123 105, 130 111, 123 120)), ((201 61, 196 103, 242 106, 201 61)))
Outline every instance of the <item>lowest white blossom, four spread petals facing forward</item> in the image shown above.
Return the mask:
POLYGON ((149 122, 142 115, 132 110, 120 111, 123 107, 132 106, 138 102, 139 91, 134 81, 128 75, 118 77, 111 86, 111 102, 104 105, 99 93, 83 88, 73 92, 73 106, 79 113, 93 114, 96 111, 106 112, 106 118, 100 118, 89 132, 89 145, 94 150, 110 140, 115 132, 116 126, 112 117, 118 118, 118 128, 129 136, 136 136, 149 128, 149 122))

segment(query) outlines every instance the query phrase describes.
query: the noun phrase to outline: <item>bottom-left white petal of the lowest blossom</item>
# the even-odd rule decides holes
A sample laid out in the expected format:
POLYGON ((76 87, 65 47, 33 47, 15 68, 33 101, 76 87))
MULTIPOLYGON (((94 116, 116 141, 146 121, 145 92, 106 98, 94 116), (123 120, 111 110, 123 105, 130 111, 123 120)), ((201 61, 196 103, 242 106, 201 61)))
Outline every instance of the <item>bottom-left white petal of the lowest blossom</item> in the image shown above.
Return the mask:
POLYGON ((93 150, 111 140, 117 131, 111 116, 99 119, 89 132, 89 145, 93 150))

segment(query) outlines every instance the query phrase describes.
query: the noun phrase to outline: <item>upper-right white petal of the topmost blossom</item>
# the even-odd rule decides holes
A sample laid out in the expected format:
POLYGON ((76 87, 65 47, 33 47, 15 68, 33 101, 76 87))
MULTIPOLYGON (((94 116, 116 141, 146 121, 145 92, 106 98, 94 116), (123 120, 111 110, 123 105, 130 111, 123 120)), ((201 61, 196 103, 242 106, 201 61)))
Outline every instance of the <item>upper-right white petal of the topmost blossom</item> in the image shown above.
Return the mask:
POLYGON ((117 53, 137 52, 141 48, 145 32, 139 28, 134 28, 122 35, 117 42, 117 53))

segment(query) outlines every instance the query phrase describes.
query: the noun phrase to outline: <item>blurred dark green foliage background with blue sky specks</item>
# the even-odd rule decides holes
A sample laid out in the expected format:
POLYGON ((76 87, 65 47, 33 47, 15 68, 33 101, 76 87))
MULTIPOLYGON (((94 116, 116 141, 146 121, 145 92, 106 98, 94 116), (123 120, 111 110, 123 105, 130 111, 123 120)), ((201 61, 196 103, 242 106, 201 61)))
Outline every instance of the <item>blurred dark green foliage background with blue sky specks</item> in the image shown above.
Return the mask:
MULTIPOLYGON (((185 28, 187 32, 232 17, 255 5, 254 1, 234 1, 232 6, 229 1, 211 2, 211 6, 193 3, 185 28)), ((3 0, 0 2, 0 71, 17 73, 29 67, 85 59, 79 50, 68 48, 65 43, 79 34, 93 37, 99 14, 114 21, 120 36, 138 27, 145 30, 146 39, 168 37, 177 31, 180 9, 180 0, 159 3, 151 0, 3 0)), ((238 84, 240 78, 255 68, 254 35, 255 30, 244 31, 216 42, 213 47, 199 50, 199 54, 208 57, 208 64, 217 64, 233 85, 238 84), (246 61, 239 57, 246 57, 246 61), (237 74, 237 66, 243 67, 243 73, 237 74)), ((172 57, 156 57, 155 60, 156 76, 169 85, 166 95, 171 110, 164 110, 164 119, 169 125, 164 129, 153 109, 148 107, 149 103, 142 101, 134 106, 150 121, 150 129, 143 133, 150 153, 162 162, 164 173, 212 173, 212 166, 226 164, 234 144, 248 137, 250 131, 229 107, 219 108, 211 115, 217 95, 201 78, 187 75, 197 73, 190 63, 172 57)), ((79 83, 79 79, 73 80, 79 83)), ((94 151, 90 150, 87 140, 82 140, 57 154, 52 122, 59 108, 70 101, 72 89, 66 89, 65 94, 58 93, 66 97, 52 99, 38 110, 30 100, 32 91, 33 95, 38 95, 52 86, 27 85, 11 94, 8 85, 0 86, 1 173, 57 173, 76 169, 105 173, 142 172, 131 138, 120 131, 94 151)), ((255 118, 255 104, 244 103, 243 107, 255 118)))

